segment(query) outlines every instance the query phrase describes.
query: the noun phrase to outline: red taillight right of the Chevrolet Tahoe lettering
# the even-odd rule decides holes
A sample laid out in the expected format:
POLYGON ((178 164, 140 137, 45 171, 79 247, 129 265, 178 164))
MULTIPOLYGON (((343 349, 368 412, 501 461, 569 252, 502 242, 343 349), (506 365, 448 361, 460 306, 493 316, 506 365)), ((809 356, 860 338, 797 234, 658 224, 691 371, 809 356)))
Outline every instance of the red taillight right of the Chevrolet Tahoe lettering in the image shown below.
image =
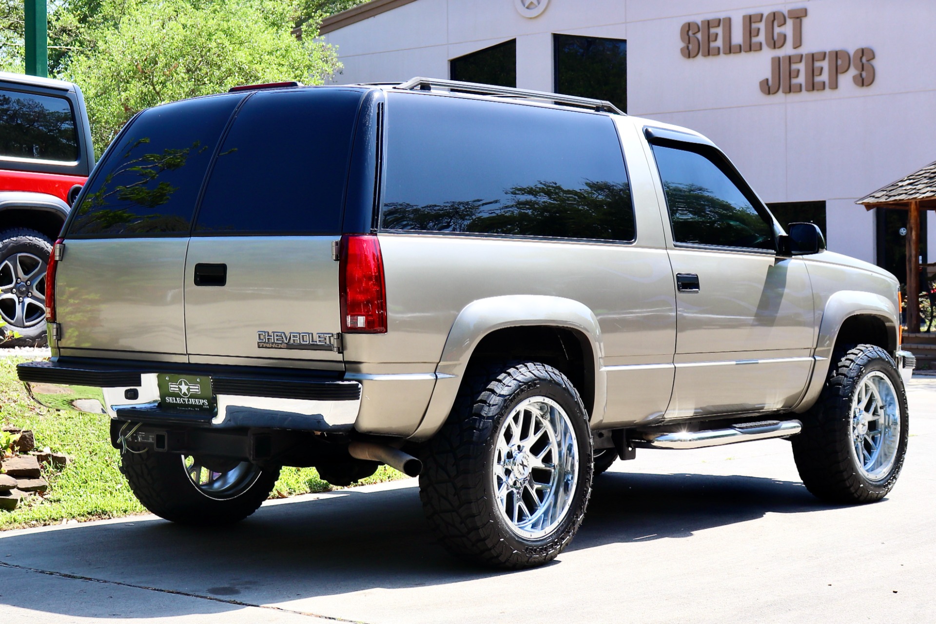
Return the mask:
POLYGON ((339 268, 342 331, 352 334, 387 333, 387 289, 384 259, 376 236, 342 237, 339 268))

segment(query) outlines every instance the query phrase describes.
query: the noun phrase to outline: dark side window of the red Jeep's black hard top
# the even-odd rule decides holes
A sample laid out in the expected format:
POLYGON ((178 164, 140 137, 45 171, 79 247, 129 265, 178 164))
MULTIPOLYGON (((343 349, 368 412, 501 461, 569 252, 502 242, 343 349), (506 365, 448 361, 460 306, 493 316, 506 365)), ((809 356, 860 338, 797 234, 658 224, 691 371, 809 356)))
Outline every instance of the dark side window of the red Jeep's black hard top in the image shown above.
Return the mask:
POLYGON ((64 97, 0 90, 0 156, 78 160, 71 103, 64 97))

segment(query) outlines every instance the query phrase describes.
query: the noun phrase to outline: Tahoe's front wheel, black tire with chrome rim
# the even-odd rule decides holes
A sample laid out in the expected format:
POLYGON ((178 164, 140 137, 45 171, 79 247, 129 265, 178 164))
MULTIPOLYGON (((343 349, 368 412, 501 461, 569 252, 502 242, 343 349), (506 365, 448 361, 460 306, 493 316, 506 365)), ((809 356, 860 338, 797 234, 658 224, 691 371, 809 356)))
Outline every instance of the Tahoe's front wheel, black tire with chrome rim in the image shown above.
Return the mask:
POLYGON ((858 345, 829 373, 791 438, 799 476, 818 498, 873 502, 897 482, 907 453, 907 394, 884 349, 858 345))

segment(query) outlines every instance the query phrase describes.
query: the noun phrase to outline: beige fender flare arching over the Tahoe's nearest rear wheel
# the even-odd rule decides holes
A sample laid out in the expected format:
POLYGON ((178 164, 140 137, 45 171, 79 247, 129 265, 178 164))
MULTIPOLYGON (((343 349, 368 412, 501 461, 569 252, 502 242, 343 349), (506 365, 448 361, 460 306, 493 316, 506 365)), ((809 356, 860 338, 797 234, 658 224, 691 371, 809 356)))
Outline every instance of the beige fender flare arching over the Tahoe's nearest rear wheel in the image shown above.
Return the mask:
POLYGON ((602 373, 604 348, 601 328, 592 310, 581 302, 564 297, 504 295, 475 300, 459 312, 435 369, 436 382, 429 406, 410 438, 431 438, 446 422, 472 353, 486 335, 505 327, 543 325, 575 330, 588 340, 594 367, 592 423, 600 422, 605 413, 607 382, 602 373))

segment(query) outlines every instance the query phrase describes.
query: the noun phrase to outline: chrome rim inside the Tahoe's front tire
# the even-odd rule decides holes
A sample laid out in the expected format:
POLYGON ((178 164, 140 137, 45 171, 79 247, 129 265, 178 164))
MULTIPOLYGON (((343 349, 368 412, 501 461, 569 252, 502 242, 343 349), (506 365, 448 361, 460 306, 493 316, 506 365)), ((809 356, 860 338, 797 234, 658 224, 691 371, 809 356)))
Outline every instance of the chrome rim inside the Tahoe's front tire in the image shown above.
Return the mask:
POLYGON ((900 408, 894 384, 872 371, 861 379, 852 398, 852 458, 871 482, 887 478, 897 460, 900 408))

